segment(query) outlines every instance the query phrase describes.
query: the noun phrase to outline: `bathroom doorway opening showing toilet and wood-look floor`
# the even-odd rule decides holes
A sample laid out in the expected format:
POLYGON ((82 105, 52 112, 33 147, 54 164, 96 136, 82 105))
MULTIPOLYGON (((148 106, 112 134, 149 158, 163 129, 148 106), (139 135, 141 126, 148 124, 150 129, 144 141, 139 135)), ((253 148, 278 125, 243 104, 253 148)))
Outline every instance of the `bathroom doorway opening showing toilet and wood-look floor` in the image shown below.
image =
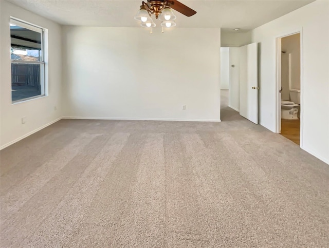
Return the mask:
POLYGON ((301 34, 278 38, 279 133, 300 145, 301 139, 301 34))

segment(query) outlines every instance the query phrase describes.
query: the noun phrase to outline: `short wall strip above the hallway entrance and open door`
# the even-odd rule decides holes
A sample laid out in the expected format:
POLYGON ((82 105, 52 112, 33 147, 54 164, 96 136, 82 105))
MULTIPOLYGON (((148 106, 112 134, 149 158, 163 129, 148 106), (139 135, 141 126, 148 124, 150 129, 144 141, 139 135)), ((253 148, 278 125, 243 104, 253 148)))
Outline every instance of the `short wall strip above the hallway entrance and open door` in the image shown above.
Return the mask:
POLYGON ((222 47, 241 47, 251 43, 251 31, 232 32, 222 29, 221 46, 222 47))

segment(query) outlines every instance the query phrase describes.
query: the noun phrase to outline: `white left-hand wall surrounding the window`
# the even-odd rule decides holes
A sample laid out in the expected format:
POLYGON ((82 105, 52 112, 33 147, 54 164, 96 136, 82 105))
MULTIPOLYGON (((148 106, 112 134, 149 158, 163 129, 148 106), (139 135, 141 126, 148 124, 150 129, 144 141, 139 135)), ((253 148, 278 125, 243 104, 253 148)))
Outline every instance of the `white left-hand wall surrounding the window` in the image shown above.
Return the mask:
POLYGON ((61 26, 6 1, 0 1, 0 6, 0 146, 4 148, 62 116, 61 26), (48 29, 49 96, 47 97, 18 104, 11 103, 10 16, 48 29), (57 110, 54 110, 55 106, 57 110), (25 124, 21 124, 22 117, 26 117, 25 124))

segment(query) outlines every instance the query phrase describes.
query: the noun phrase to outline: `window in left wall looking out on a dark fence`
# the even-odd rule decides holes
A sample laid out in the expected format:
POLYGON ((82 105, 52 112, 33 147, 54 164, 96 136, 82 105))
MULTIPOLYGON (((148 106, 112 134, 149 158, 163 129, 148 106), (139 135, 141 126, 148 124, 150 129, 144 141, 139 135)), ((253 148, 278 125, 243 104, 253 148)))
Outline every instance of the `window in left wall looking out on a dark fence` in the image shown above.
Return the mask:
POLYGON ((45 96, 44 30, 10 20, 11 101, 45 96))

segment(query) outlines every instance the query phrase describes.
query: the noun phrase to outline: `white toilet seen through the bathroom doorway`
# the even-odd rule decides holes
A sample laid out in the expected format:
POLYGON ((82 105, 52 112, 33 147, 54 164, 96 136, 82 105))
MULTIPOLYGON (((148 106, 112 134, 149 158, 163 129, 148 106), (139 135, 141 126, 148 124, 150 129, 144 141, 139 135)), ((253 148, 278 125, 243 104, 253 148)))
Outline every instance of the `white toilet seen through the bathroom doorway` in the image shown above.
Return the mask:
POLYGON ((281 101, 281 119, 298 120, 300 110, 300 89, 289 89, 290 101, 281 101))

